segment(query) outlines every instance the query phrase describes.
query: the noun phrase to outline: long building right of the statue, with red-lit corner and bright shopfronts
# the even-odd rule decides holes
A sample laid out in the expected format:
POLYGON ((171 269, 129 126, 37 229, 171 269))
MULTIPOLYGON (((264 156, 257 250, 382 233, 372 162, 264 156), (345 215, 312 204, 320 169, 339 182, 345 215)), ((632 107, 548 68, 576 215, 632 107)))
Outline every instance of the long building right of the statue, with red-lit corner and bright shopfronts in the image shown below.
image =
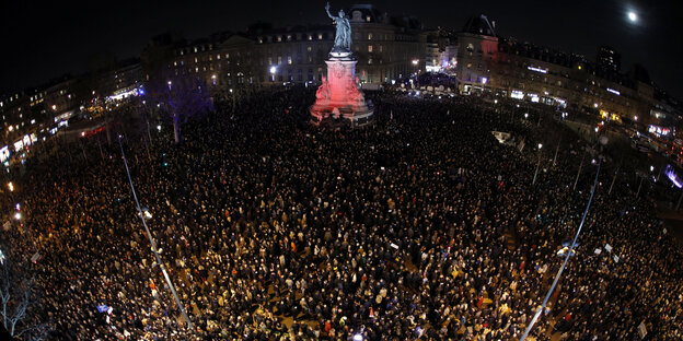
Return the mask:
POLYGON ((607 68, 579 55, 499 37, 485 15, 472 17, 458 35, 462 93, 491 92, 604 119, 649 120, 655 87, 647 72, 622 74, 614 71, 614 60, 607 68))

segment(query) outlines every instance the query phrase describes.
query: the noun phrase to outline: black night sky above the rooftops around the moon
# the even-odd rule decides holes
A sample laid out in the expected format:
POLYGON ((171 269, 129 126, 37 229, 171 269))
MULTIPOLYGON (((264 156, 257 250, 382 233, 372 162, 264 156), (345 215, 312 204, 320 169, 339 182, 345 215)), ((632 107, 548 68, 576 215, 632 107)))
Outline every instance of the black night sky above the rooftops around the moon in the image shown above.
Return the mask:
MULTIPOLYGON (((186 38, 244 31, 257 21, 275 26, 328 23, 325 1, 0 1, 0 93, 35 86, 63 73, 88 70, 93 55, 138 57, 149 39, 169 30, 186 38)), ((683 98, 683 1, 332 1, 332 10, 373 3, 392 14, 415 15, 426 27, 460 30, 484 13, 497 32, 520 42, 583 54, 600 45, 622 54, 622 70, 644 64, 650 78, 683 98), (627 17, 629 10, 637 23, 627 17)))

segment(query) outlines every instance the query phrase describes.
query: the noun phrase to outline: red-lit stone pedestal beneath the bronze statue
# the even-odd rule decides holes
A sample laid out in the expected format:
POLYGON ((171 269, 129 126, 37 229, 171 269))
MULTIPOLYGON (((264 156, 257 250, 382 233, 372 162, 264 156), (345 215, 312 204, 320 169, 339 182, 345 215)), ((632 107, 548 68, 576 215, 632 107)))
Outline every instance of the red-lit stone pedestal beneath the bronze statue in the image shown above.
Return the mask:
POLYGON ((333 50, 329 54, 325 60, 327 77, 323 77, 323 84, 315 93, 315 104, 310 108, 312 124, 320 125, 331 118, 347 121, 351 127, 371 122, 374 111, 358 89, 357 62, 350 52, 333 50))

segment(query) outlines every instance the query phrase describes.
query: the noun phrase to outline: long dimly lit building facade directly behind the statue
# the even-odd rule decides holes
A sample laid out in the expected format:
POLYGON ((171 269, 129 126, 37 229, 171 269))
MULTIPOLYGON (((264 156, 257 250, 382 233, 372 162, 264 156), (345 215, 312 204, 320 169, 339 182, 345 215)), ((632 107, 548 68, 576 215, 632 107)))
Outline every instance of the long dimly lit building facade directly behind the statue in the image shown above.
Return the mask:
MULTIPOLYGON (((347 13, 361 84, 390 83, 425 70, 426 35, 418 21, 391 16, 372 5, 354 5, 347 13)), ((157 56, 165 58, 165 66, 152 78, 172 81, 173 78, 196 77, 207 84, 234 91, 269 84, 320 83, 334 35, 332 24, 282 28, 261 24, 253 25, 246 33, 169 44, 162 52, 155 46, 157 56)), ((142 57, 142 69, 153 69, 144 63, 158 59, 142 57)), ((149 74, 146 81, 154 82, 149 74)))

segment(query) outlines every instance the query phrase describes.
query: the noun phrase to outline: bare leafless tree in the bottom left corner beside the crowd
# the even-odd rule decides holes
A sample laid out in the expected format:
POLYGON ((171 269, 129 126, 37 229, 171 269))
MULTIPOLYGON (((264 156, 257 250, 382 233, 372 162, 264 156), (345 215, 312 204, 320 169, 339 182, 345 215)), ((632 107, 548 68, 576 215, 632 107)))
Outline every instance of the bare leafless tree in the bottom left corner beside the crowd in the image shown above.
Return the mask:
POLYGON ((33 294, 35 275, 25 274, 25 269, 16 263, 2 259, 0 264, 0 304, 2 324, 13 338, 23 340, 43 340, 47 334, 46 324, 28 324, 27 309, 36 303, 33 294))

